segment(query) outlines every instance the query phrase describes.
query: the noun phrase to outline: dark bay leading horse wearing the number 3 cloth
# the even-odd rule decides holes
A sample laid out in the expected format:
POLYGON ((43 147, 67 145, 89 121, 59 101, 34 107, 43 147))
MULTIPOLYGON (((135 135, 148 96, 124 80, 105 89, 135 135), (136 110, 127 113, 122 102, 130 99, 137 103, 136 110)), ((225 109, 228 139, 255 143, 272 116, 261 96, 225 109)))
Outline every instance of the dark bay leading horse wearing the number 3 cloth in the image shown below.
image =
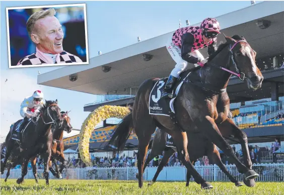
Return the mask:
POLYGON ((256 52, 245 38, 234 35, 233 37, 225 36, 225 39, 226 42, 209 56, 205 66, 198 66, 181 73, 175 87, 181 81, 184 83, 174 102, 176 112, 173 120, 169 120, 167 116, 149 114, 150 92, 159 79, 149 78, 139 86, 132 112, 124 117, 116 127, 109 141, 109 144, 117 146, 118 151, 123 150, 131 133, 129 127, 133 121, 133 129, 138 138, 139 187, 143 186, 142 173, 145 156, 156 127, 173 137, 179 159, 191 172, 195 182, 201 184, 201 188, 210 187, 211 184, 200 176, 189 160, 186 132, 197 130, 203 133, 208 140, 232 159, 240 173, 244 173, 244 181, 259 176, 251 169, 251 162, 246 165, 240 162, 230 144, 222 137, 218 127, 220 124, 220 126, 228 128, 228 132, 239 130, 228 118, 230 100, 226 88, 232 74, 237 75, 241 80, 246 80, 248 88, 253 90, 260 88, 263 80, 263 76, 255 64, 256 52))

